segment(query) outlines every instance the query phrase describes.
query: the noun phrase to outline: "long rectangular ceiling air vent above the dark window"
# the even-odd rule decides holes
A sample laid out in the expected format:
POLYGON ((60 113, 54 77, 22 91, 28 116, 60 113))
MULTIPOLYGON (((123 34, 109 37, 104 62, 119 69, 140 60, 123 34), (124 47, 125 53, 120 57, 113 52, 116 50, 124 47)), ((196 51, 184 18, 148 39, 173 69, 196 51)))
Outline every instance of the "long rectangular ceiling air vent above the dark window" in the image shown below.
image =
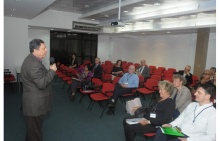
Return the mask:
POLYGON ((86 31, 99 31, 100 27, 97 27, 95 24, 79 23, 73 22, 73 29, 86 30, 86 31))

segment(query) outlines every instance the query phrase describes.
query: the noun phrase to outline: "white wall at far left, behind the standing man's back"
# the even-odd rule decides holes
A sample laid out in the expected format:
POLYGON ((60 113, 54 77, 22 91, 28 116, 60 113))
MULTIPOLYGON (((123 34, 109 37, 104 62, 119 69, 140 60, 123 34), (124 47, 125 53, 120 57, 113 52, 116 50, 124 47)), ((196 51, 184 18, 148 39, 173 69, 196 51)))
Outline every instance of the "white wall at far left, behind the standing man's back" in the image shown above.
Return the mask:
POLYGON ((4 17, 4 68, 16 76, 15 67, 29 54, 28 20, 4 17))

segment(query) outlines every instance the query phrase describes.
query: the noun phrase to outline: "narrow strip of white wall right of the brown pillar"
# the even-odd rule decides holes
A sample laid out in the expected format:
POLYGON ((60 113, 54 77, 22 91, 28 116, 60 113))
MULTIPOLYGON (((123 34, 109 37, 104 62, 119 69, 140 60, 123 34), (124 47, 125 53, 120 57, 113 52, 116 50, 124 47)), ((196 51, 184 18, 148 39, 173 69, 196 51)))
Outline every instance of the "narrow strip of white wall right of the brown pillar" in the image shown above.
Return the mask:
POLYGON ((206 69, 216 67, 216 33, 209 34, 208 54, 206 59, 206 69))

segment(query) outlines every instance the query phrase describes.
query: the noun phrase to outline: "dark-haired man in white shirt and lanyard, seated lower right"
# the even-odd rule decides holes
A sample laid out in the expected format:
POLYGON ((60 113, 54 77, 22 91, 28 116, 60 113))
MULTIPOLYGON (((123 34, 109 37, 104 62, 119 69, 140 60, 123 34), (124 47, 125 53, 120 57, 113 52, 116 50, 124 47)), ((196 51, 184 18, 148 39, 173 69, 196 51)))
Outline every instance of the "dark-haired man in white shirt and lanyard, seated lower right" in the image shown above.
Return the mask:
POLYGON ((198 86, 195 97, 197 102, 192 102, 170 124, 163 127, 179 127, 187 138, 177 138, 165 135, 160 129, 154 141, 215 141, 216 140, 216 110, 211 103, 215 88, 206 83, 198 86))

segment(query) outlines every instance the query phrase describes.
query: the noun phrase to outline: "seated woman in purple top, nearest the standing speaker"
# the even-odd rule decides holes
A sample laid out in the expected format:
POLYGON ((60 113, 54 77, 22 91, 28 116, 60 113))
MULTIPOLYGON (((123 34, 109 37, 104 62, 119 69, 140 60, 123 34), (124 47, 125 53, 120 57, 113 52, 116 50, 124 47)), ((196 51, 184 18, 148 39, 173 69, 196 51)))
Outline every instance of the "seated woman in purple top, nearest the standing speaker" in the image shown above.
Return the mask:
POLYGON ((71 88, 72 88, 72 94, 70 96, 71 100, 74 100, 75 94, 76 94, 76 89, 82 85, 82 82, 91 81, 92 72, 88 68, 90 68, 89 64, 85 65, 84 70, 77 74, 78 78, 73 79, 72 85, 71 85, 71 88))

